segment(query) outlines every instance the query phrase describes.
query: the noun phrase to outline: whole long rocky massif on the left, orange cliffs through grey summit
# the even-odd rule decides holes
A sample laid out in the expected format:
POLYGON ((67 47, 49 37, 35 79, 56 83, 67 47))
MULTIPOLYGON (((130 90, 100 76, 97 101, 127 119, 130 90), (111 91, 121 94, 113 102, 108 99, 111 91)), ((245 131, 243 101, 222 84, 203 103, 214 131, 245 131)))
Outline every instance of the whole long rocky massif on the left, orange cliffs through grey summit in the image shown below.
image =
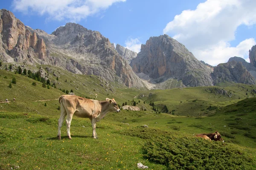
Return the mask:
POLYGON ((143 87, 128 62, 108 38, 79 24, 67 23, 52 34, 33 30, 0 10, 0 59, 5 62, 57 65, 76 74, 94 74, 128 87, 143 87))

